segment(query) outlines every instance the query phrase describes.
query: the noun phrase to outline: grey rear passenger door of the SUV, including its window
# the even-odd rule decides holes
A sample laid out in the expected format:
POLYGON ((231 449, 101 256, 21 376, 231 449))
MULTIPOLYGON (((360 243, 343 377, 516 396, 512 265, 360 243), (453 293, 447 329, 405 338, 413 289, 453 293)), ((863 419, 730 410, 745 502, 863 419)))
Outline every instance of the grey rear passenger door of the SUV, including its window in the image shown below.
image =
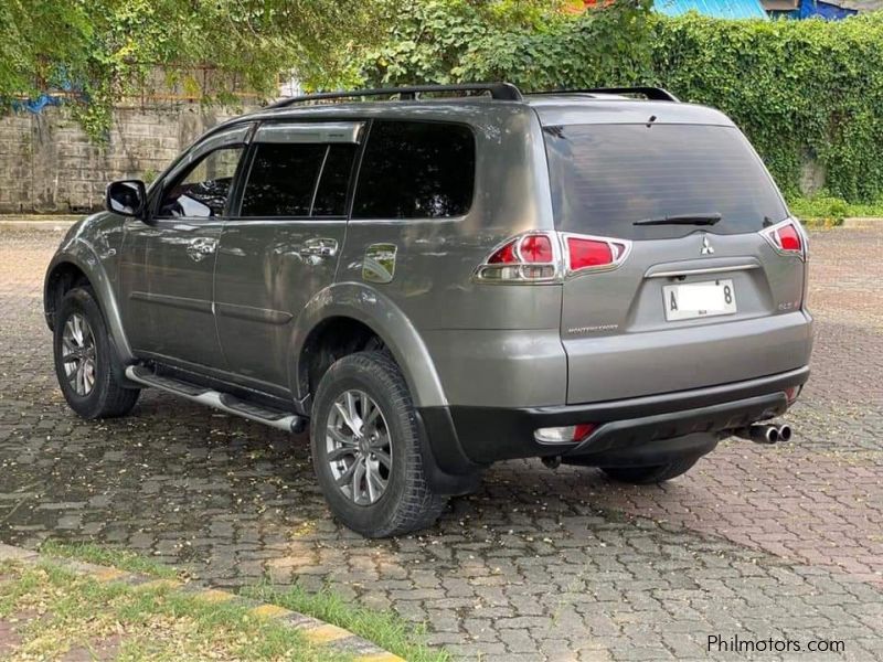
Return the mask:
POLYGON ((221 235, 215 316, 230 370, 288 389, 294 320, 331 285, 363 122, 274 122, 255 132, 221 235))

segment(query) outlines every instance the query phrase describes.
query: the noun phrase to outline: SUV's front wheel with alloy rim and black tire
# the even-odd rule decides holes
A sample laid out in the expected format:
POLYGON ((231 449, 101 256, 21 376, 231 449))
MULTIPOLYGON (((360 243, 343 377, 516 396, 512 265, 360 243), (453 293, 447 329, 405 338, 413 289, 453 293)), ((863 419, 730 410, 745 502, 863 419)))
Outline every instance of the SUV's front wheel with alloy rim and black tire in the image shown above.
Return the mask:
POLYGON ((91 288, 74 288, 62 299, 53 350, 58 386, 79 416, 114 418, 135 406, 140 391, 125 388, 115 376, 117 357, 91 288))

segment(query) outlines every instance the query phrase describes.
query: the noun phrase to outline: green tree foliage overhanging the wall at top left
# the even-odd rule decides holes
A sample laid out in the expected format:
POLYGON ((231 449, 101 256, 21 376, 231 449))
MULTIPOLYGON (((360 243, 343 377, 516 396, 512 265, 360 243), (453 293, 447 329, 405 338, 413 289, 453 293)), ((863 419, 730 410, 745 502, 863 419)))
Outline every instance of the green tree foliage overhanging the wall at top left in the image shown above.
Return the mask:
MULTIPOLYGON (((92 134, 115 102, 157 66, 170 76, 212 65, 251 90, 276 92, 295 72, 308 86, 355 79, 354 52, 382 33, 389 0, 3 0, 0 103, 47 89, 76 94, 73 108, 92 134)), ((225 89, 181 82, 204 100, 225 89)))

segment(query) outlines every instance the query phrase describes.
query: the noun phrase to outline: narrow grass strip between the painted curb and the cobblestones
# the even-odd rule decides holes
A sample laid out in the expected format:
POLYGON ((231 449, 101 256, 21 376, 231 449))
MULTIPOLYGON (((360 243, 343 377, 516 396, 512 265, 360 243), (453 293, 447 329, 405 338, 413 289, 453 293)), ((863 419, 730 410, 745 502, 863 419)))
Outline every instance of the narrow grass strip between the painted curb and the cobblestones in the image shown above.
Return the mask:
POLYGON ((451 660, 447 651, 432 649, 425 643, 426 632, 423 627, 407 622, 391 610, 376 611, 353 606, 330 590, 308 592, 297 586, 278 590, 262 585, 246 588, 242 594, 344 628, 408 662, 451 660))

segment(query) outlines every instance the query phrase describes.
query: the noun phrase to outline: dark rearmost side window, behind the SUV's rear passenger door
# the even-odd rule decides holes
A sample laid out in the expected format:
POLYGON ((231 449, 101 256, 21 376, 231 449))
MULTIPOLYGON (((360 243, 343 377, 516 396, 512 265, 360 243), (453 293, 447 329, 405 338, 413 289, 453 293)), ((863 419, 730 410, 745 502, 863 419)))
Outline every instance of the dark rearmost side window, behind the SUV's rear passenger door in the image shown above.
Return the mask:
POLYGON ((476 148, 465 126, 374 121, 355 191, 355 218, 445 218, 469 211, 476 148))

